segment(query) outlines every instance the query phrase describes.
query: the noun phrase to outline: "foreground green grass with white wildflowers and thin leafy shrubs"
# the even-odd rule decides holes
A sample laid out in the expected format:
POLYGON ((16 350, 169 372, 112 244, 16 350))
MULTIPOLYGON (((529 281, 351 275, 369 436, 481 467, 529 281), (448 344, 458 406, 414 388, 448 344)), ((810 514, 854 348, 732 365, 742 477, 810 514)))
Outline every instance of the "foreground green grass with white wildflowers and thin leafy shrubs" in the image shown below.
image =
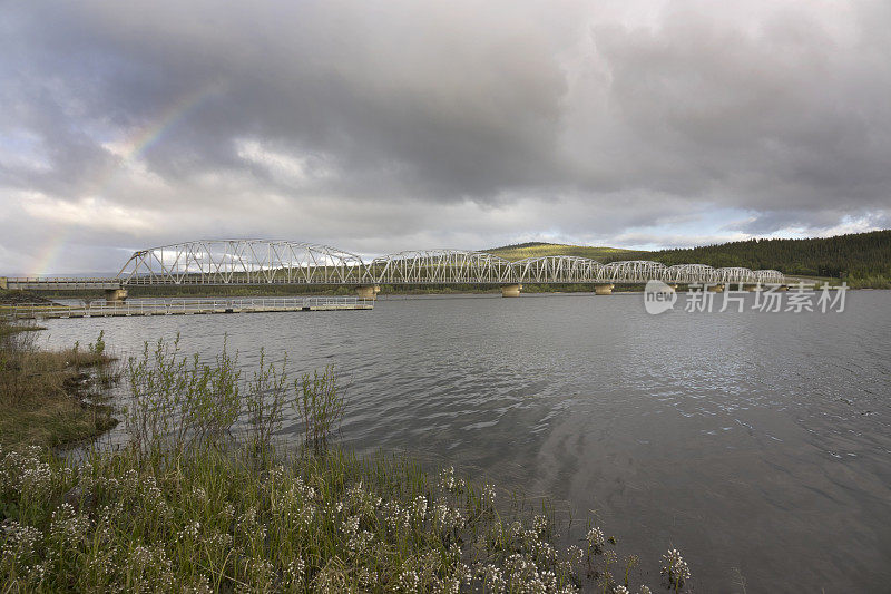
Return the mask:
POLYGON ((684 590, 676 551, 642 573, 591 524, 540 500, 427 471, 404 456, 332 447, 346 400, 331 368, 242 377, 178 342, 124 372, 130 441, 66 459, 0 447, 3 592, 576 592, 684 590), (291 408, 303 440, 281 444, 291 408))

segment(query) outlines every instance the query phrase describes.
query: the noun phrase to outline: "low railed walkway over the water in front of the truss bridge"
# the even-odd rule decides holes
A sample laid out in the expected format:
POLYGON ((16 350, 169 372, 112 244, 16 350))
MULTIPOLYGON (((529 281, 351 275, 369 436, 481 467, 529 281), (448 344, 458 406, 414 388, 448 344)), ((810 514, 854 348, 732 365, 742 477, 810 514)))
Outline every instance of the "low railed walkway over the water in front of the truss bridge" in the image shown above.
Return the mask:
POLYGON ((371 310, 374 302, 359 298, 216 299, 206 301, 128 301, 86 305, 45 303, 0 305, 0 315, 19 319, 115 318, 133 315, 194 315, 284 311, 371 310))

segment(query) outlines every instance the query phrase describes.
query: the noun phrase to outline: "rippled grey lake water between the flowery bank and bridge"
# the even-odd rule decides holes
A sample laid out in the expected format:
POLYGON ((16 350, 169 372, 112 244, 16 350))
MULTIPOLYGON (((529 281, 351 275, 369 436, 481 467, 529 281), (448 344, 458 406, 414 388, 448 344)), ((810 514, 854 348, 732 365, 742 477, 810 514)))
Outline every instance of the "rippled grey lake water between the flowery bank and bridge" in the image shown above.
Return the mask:
MULTIPOLYGON (((719 299, 719 298, 718 298, 719 299)), ((752 296, 750 296, 752 299, 752 296)), ((683 298, 682 298, 683 300, 683 298)), ((891 292, 843 313, 649 315, 640 294, 384 298, 374 311, 47 322, 117 352, 182 332, 350 383, 343 439, 594 512, 647 583, 891 591, 891 292)), ((295 432, 293 422, 287 431, 295 432)), ((654 590, 655 591, 655 590, 654 590)))

